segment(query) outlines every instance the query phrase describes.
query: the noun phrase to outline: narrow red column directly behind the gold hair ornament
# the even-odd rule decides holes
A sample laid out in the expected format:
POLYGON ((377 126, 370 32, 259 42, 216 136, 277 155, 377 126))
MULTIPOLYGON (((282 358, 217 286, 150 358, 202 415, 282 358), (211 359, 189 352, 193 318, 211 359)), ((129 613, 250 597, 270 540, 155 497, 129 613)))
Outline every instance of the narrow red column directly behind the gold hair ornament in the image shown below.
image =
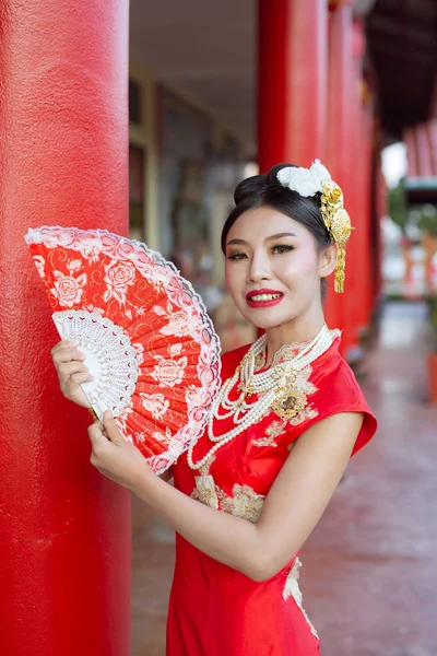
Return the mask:
MULTIPOLYGON (((353 103, 353 60, 352 60, 352 24, 353 11, 351 2, 331 2, 329 15, 328 48, 328 137, 327 166, 332 178, 342 187, 345 208, 352 215, 351 186, 351 130, 353 103)), ((352 220, 354 216, 352 215, 352 220)), ((354 238, 352 234, 351 242, 354 238)), ((350 244, 351 244, 350 242, 350 244)), ((345 289, 351 285, 350 246, 346 257, 345 289)), ((342 348, 346 345, 347 331, 345 301, 343 294, 335 294, 333 281, 329 281, 329 290, 324 313, 330 327, 343 330, 342 348)), ((347 293, 347 292, 346 292, 347 293)))

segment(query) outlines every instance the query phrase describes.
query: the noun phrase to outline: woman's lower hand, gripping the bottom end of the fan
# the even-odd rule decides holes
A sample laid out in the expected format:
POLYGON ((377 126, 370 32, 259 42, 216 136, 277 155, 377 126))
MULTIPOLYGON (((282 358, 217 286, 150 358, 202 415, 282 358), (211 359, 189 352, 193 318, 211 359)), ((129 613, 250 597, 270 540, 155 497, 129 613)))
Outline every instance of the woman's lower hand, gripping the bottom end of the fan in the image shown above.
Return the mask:
POLYGON ((91 464, 111 481, 134 492, 138 481, 150 470, 155 476, 140 450, 120 433, 109 411, 104 423, 99 421, 88 427, 93 445, 91 464))

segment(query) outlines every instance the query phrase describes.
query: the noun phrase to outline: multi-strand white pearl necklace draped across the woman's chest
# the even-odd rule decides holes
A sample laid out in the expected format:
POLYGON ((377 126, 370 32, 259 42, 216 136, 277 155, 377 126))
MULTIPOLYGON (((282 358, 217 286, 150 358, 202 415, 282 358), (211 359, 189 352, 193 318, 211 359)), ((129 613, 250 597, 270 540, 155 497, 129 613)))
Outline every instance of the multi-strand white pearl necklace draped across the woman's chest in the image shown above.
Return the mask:
POLYGON ((193 446, 187 452, 188 465, 191 469, 200 469, 222 446, 234 440, 249 426, 258 423, 272 409, 280 415, 286 417, 281 402, 293 394, 294 384, 298 372, 306 368, 311 362, 320 358, 332 344, 338 331, 330 331, 323 324, 320 331, 302 350, 295 354, 291 345, 282 347, 275 353, 270 368, 255 373, 256 363, 265 354, 267 337, 260 337, 248 350, 241 363, 236 368, 232 378, 225 380, 216 394, 208 420, 208 436, 215 443, 208 454, 198 462, 192 460, 193 446), (233 401, 229 394, 238 383, 238 398, 233 401), (257 395, 257 400, 251 403, 246 397, 257 395), (224 412, 221 412, 221 410, 224 412), (284 414, 282 414, 284 412, 284 414), (213 422, 234 418, 235 427, 222 435, 214 435, 213 422))

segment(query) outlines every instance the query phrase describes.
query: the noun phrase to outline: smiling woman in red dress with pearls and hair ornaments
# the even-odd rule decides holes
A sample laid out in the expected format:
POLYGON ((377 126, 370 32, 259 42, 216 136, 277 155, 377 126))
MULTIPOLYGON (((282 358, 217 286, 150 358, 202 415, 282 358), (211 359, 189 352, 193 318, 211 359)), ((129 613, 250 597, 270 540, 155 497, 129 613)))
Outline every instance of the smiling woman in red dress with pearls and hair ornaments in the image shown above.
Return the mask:
MULTIPOLYGON (((319 640, 302 608, 297 552, 376 430, 340 332, 323 319, 324 279, 335 271, 342 291, 349 218, 318 161, 244 180, 235 203, 222 237, 226 281, 264 337, 223 356, 208 430, 174 466, 175 487, 109 413, 88 429, 91 461, 177 531, 168 655, 311 656, 319 640)), ((52 355, 63 394, 86 406, 81 353, 60 342, 52 355)))

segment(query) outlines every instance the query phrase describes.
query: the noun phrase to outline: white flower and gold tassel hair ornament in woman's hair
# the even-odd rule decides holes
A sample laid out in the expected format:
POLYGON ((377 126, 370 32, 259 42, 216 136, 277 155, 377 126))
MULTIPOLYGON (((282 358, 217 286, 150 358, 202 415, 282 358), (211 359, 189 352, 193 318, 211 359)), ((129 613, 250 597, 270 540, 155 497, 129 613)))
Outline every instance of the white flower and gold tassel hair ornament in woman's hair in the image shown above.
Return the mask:
POLYGON ((350 215, 343 207, 343 191, 333 181, 320 160, 316 160, 309 168, 285 166, 277 172, 276 177, 283 187, 287 187, 291 191, 297 191, 304 198, 321 194, 320 213, 332 242, 339 247, 334 290, 343 293, 346 243, 354 230, 350 215))

